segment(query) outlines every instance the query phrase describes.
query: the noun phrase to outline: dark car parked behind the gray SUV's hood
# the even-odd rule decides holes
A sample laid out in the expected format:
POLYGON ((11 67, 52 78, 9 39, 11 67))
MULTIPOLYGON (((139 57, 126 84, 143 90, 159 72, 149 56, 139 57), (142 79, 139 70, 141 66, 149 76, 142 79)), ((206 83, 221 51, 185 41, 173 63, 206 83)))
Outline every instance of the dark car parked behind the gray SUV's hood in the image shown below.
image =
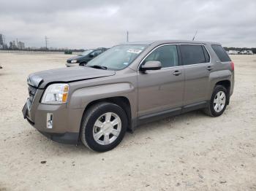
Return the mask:
POLYGON ((102 52, 105 52, 106 50, 108 50, 108 48, 104 47, 86 50, 80 55, 67 59, 66 66, 86 66, 86 63, 97 57, 97 55, 100 55, 102 52))

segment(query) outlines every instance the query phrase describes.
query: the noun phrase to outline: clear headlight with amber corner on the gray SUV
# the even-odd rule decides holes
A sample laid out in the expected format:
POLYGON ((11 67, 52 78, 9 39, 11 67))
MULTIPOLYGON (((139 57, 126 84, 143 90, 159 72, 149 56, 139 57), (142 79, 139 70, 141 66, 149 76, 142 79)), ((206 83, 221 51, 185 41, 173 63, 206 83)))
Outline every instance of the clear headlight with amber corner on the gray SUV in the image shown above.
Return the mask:
POLYGON ((44 104, 62 104, 67 102, 69 94, 69 85, 53 84, 49 85, 44 95, 42 95, 42 103, 44 104))

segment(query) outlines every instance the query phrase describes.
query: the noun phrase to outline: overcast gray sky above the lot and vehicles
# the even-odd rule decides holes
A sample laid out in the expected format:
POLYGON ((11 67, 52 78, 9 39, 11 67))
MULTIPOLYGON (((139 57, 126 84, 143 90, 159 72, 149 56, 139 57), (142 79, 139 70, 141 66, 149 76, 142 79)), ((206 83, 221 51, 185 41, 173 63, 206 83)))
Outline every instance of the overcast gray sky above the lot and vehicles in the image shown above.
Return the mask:
POLYGON ((256 47, 256 0, 0 0, 0 34, 26 46, 91 48, 192 39, 256 47))

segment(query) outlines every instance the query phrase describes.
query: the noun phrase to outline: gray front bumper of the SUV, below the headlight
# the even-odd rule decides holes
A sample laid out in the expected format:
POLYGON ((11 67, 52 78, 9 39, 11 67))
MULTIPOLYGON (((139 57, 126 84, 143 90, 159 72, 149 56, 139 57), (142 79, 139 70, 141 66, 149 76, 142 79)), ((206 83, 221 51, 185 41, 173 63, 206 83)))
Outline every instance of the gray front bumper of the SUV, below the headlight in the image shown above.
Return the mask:
MULTIPOLYGON (((68 110, 64 105, 39 104, 34 114, 34 120, 31 120, 31 110, 28 101, 22 109, 24 119, 36 128, 44 136, 53 141, 65 144, 78 144, 79 129, 74 130, 70 127, 68 110), (53 128, 47 128, 47 114, 53 114, 53 128), (70 128, 69 128, 70 127, 70 128)), ((74 111, 76 112, 76 111, 74 111)))

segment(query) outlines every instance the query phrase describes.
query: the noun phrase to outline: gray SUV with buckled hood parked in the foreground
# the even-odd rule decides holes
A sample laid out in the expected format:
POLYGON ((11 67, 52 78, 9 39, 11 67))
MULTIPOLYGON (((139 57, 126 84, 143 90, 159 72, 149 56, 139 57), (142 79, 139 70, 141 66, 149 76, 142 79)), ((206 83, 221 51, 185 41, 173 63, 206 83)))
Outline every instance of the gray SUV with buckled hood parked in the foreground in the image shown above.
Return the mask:
POLYGON ((233 93, 234 63, 215 42, 131 42, 86 66, 30 74, 28 85, 23 117, 34 128, 105 152, 144 122, 195 109, 221 115, 233 93))

